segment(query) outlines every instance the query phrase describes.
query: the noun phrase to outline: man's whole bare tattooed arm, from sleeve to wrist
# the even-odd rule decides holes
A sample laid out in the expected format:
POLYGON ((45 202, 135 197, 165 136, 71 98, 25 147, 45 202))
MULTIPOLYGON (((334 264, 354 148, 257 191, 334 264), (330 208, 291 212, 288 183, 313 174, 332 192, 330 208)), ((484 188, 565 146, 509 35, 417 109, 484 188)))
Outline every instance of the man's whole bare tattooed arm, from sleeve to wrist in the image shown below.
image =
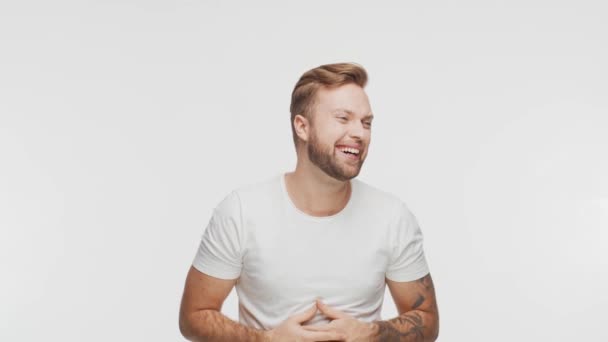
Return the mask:
POLYGON ((439 335, 439 310, 430 274, 410 282, 386 279, 399 316, 375 321, 374 341, 431 342, 439 335))

